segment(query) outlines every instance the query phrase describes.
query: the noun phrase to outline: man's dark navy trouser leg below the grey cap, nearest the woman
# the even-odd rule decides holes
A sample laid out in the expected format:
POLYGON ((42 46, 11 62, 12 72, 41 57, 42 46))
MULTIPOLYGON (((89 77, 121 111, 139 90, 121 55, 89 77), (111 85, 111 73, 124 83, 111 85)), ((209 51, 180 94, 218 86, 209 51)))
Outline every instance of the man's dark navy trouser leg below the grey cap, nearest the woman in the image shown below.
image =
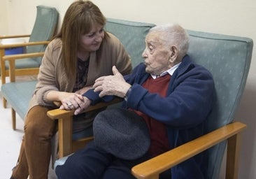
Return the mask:
POLYGON ((92 141, 66 159, 64 165, 57 166, 55 172, 62 179, 98 179, 112 160, 111 154, 97 150, 92 141))

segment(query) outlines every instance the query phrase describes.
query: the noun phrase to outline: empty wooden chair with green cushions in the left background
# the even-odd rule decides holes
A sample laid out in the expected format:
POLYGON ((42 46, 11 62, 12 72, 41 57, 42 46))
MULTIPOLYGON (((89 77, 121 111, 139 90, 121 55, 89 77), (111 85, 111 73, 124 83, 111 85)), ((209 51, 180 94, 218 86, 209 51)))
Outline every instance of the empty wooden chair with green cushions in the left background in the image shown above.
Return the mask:
MULTIPOLYGON (((41 64, 41 57, 50 38, 57 28, 58 12, 55 8, 37 6, 36 21, 30 35, 0 36, 5 38, 29 37, 27 43, 12 43, 0 45, 1 83, 6 83, 6 77, 10 76, 10 66, 15 66, 14 76, 10 76, 10 82, 15 81, 15 76, 37 75, 41 64), (25 53, 20 55, 6 55, 6 49, 24 48, 25 53)), ((3 99, 3 107, 6 108, 6 100, 3 99)))

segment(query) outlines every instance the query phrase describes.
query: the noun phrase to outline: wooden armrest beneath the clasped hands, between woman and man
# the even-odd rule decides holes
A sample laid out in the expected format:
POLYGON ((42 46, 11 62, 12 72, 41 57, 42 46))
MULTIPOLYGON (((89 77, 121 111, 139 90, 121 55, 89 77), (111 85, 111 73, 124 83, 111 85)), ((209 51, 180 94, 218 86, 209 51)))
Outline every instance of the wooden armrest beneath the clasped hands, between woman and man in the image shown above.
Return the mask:
MULTIPOLYGON (((99 109, 99 108, 104 108, 104 107, 110 106, 111 104, 120 103, 122 100, 123 99, 121 99, 121 98, 115 98, 112 101, 107 102, 107 103, 104 103, 104 102, 97 103, 96 105, 90 106, 89 108, 85 109, 83 111, 83 113, 91 111, 91 110, 96 110, 96 109, 99 109)), ((57 120, 59 118, 64 118, 66 116, 71 116, 71 115, 73 115, 74 112, 75 112, 75 110, 54 109, 54 110, 49 110, 47 115, 52 120, 57 120)))

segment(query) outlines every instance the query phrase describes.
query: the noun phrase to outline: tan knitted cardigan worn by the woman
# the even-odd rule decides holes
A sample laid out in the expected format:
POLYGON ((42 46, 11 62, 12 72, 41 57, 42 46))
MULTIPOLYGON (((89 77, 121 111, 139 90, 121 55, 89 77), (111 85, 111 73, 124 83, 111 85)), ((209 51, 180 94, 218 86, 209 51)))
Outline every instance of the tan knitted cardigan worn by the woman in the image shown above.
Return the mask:
MULTIPOLYGON (((112 34, 108 33, 108 35, 110 38, 104 38, 101 44, 103 45, 102 55, 98 65, 96 63, 97 52, 92 52, 90 55, 86 85, 93 85, 94 80, 100 76, 112 75, 113 65, 116 65, 123 75, 131 72, 131 59, 122 43, 112 34)), ((49 43, 45 50, 38 73, 38 83, 29 103, 29 109, 36 105, 54 106, 52 101, 45 99, 45 95, 50 90, 72 92, 76 83, 76 76, 67 77, 60 64, 62 64, 62 41, 55 39, 49 43)))

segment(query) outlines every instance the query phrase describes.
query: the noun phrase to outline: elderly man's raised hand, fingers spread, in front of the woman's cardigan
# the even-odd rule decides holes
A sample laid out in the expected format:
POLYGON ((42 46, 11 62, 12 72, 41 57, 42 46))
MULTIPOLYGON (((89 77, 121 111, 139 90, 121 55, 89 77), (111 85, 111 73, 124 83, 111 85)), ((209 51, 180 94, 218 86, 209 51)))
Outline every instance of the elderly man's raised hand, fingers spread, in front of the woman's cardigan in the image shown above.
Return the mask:
POLYGON ((102 76, 95 80, 93 85, 94 92, 100 92, 100 97, 115 95, 123 98, 131 85, 126 83, 122 74, 115 66, 113 66, 112 71, 113 76, 102 76))

